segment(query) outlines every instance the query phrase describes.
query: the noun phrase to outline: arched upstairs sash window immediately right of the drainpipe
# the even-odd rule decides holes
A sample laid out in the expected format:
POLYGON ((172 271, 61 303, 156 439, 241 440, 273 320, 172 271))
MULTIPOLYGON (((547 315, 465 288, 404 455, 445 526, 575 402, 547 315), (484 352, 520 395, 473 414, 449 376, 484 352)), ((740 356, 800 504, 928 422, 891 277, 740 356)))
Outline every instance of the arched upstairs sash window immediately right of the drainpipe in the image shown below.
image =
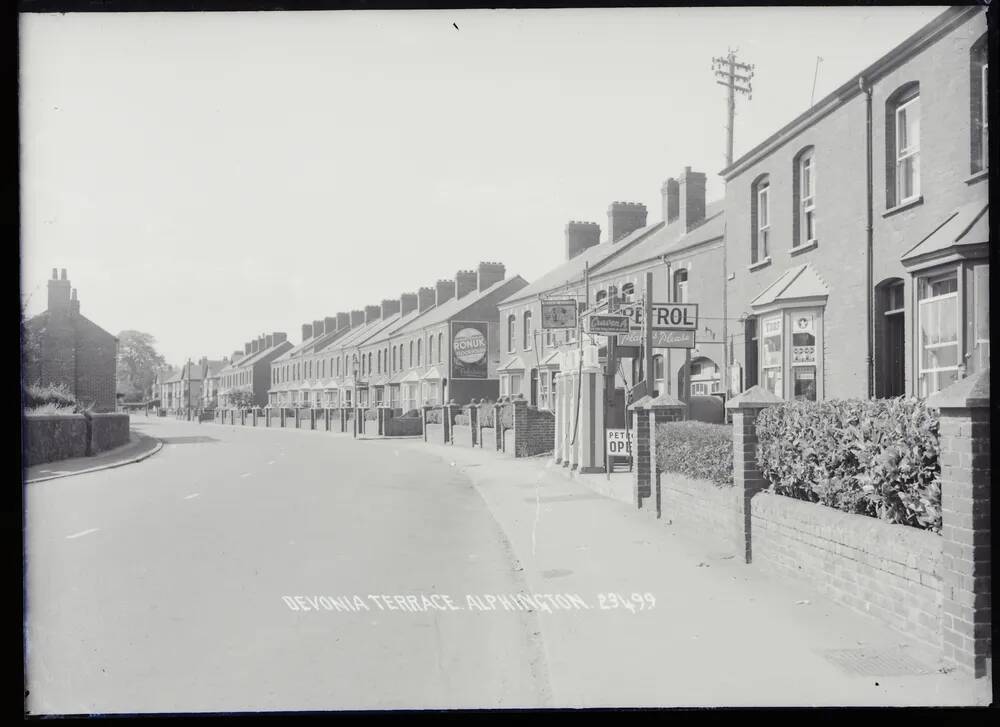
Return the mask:
POLYGON ((886 101, 886 207, 920 196, 920 85, 911 83, 886 101))

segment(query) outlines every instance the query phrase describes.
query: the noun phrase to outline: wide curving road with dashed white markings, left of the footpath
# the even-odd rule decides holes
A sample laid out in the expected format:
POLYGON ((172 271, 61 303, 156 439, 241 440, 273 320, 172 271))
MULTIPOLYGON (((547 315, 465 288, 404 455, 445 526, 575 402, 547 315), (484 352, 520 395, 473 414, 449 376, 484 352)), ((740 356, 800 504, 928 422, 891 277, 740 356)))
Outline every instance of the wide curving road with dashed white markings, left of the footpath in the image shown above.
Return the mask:
POLYGON ((33 713, 548 703, 534 613, 282 600, 524 590, 454 469, 319 432, 136 421, 166 441, 154 457, 28 489, 33 713))

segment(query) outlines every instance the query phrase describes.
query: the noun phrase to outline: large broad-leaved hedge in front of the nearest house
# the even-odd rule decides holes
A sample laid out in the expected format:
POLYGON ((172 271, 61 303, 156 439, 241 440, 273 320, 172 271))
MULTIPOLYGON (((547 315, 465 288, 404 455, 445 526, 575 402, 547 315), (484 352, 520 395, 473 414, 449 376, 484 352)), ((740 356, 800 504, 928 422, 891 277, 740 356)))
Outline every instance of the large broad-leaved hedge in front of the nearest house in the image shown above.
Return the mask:
POLYGON ((937 414, 915 398, 788 402, 757 419, 773 491, 940 532, 937 414))

